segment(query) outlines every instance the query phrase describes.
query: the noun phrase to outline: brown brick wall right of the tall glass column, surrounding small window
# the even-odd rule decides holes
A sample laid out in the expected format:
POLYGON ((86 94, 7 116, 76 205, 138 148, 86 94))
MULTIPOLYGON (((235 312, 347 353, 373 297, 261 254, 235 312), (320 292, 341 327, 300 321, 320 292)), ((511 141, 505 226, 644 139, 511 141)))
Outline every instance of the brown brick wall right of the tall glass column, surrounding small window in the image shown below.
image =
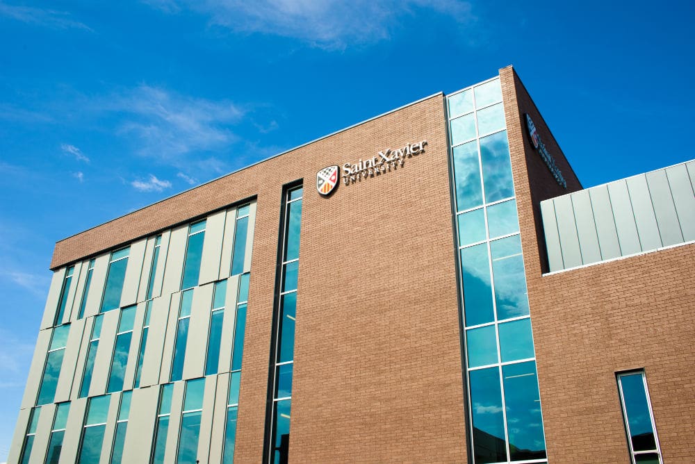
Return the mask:
POLYGON ((500 71, 520 214, 548 459, 628 463, 615 372, 644 368, 664 461, 695 452, 695 245, 542 276, 539 201, 578 190, 513 69, 500 71), (516 97, 514 105, 506 106, 516 97), (530 113, 568 181, 555 183, 528 140, 530 113), (533 214, 528 212, 532 211, 533 214))

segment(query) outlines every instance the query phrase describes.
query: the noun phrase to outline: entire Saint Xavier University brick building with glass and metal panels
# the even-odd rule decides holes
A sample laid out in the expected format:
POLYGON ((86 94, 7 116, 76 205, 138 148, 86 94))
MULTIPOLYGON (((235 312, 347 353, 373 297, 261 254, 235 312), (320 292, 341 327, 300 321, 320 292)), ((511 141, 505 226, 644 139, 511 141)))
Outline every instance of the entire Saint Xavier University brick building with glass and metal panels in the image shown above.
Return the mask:
POLYGON ((9 462, 692 463, 693 185, 505 67, 60 240, 9 462))

